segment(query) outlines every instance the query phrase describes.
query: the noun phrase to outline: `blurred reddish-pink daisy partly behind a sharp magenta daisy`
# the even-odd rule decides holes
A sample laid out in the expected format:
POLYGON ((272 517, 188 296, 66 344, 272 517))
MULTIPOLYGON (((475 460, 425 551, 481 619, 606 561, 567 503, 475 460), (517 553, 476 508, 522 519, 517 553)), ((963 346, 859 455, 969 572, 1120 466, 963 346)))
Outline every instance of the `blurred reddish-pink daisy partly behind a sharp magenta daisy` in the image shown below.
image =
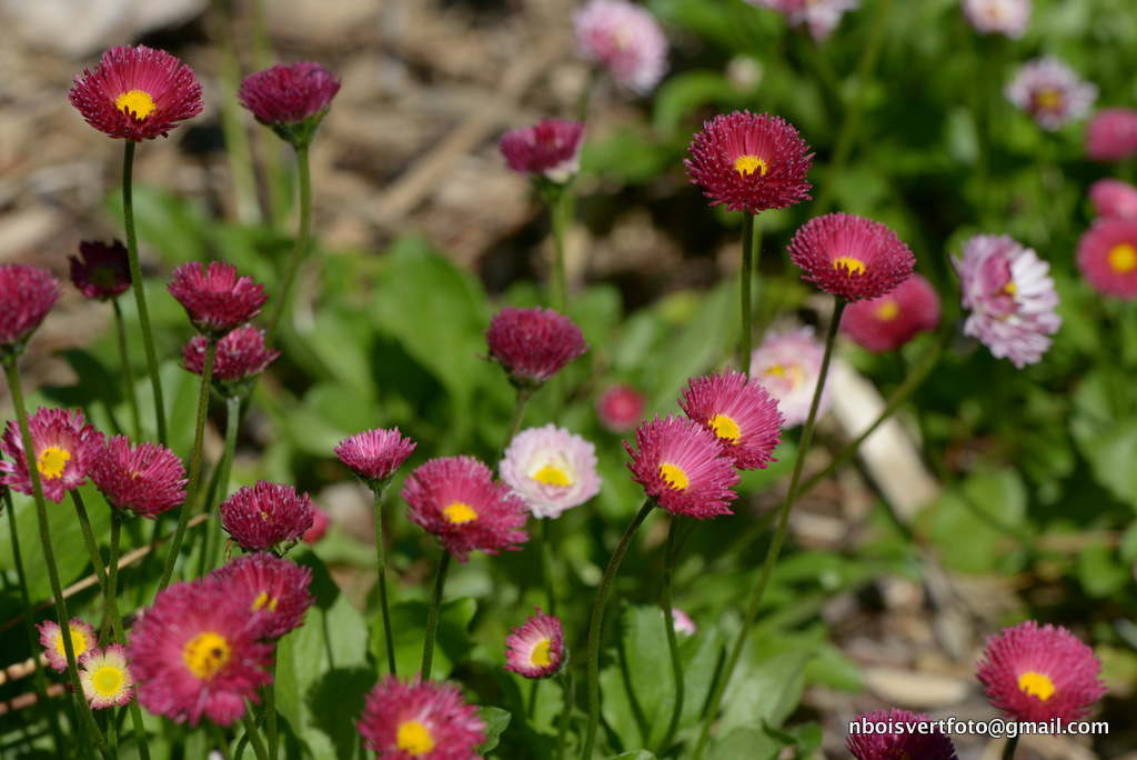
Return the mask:
POLYGON ((939 294, 920 274, 890 294, 849 304, 841 314, 841 331, 875 354, 896 350, 938 325, 939 294))

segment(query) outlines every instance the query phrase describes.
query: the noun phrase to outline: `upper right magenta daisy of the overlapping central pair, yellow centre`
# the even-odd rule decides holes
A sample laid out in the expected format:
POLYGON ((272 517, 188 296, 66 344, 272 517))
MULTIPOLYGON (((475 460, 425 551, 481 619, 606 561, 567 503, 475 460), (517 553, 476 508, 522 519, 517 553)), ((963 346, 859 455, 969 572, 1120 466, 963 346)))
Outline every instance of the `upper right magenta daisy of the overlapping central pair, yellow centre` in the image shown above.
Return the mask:
POLYGON ((782 415, 757 380, 731 370, 691 378, 679 406, 719 438, 739 470, 765 470, 778 461, 773 453, 781 443, 782 415))

